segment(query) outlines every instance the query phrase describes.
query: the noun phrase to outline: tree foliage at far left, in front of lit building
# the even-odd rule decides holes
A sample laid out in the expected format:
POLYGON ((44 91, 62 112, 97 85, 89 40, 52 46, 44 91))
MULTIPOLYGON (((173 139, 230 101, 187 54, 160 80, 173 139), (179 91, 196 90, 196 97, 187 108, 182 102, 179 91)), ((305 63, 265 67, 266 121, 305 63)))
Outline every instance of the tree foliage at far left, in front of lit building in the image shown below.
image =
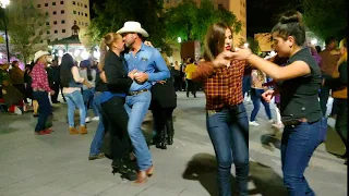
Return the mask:
POLYGON ((41 13, 32 0, 16 0, 9 5, 8 19, 10 44, 13 50, 20 53, 19 58, 27 62, 35 50, 38 50, 38 44, 47 39, 48 16, 41 13))

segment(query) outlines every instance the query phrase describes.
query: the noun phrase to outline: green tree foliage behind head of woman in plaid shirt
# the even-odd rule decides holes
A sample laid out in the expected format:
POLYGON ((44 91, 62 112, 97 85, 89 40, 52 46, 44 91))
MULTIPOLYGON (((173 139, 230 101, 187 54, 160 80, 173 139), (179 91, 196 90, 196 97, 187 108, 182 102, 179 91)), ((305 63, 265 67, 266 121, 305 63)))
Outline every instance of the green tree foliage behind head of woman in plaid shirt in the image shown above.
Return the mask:
POLYGON ((224 22, 233 27, 234 33, 241 30, 241 22, 225 9, 215 9, 212 0, 202 0, 200 7, 192 0, 183 0, 178 7, 165 13, 167 39, 203 40, 209 25, 224 22))

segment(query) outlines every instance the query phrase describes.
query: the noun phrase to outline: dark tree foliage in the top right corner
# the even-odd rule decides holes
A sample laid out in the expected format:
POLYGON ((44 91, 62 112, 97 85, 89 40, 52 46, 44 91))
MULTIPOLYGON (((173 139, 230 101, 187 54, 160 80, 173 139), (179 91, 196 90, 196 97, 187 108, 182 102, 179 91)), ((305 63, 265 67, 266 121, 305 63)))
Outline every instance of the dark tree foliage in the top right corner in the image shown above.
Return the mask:
POLYGON ((341 39, 348 27, 347 5, 346 0, 302 0, 305 24, 323 39, 329 36, 341 39))

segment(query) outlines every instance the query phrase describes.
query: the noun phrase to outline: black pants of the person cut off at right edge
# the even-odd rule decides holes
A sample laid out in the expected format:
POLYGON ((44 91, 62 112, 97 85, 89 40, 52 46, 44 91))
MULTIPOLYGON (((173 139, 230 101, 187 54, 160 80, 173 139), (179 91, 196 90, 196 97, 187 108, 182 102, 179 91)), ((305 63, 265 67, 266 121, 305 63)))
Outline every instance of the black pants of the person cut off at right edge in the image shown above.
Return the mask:
MULTIPOLYGON (((341 140, 348 148, 348 100, 347 99, 336 99, 336 111, 337 119, 335 128, 340 136, 341 140)), ((347 149, 348 150, 348 149, 347 149)))

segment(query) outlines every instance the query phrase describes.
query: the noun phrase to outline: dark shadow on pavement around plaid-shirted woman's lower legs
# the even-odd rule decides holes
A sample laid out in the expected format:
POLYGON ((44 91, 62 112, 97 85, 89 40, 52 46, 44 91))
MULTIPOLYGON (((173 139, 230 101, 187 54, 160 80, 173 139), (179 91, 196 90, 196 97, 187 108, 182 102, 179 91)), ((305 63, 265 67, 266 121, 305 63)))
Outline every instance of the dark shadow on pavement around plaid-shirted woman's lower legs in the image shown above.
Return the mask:
MULTIPOLYGON (((196 154, 186 164, 182 177, 198 181, 209 195, 218 195, 217 189, 217 161, 213 155, 196 154)), ((262 194, 265 196, 286 196, 287 192, 282 179, 269 167, 250 161, 249 181, 254 188, 249 189, 249 195, 262 194)), ((231 175, 231 189, 236 189, 236 179, 231 175)))

